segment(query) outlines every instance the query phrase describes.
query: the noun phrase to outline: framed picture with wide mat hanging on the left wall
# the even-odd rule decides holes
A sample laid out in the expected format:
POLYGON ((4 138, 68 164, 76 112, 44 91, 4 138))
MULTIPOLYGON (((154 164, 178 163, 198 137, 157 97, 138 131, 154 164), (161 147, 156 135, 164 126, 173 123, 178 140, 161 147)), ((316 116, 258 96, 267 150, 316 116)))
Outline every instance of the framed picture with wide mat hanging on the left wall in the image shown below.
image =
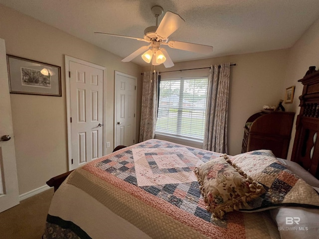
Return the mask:
POLYGON ((6 55, 13 94, 62 96, 61 67, 6 55))

